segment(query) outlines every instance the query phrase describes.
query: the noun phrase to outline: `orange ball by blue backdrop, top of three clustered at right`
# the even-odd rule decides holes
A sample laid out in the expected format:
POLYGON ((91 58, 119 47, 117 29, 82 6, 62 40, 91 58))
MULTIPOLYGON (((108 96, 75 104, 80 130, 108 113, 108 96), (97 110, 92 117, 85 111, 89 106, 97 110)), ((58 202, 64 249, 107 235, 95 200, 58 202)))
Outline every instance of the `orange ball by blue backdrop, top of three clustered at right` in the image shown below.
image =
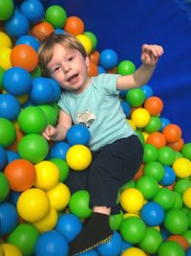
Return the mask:
POLYGON ((181 129, 178 125, 169 124, 162 129, 162 134, 165 136, 167 142, 174 143, 180 140, 181 129))

